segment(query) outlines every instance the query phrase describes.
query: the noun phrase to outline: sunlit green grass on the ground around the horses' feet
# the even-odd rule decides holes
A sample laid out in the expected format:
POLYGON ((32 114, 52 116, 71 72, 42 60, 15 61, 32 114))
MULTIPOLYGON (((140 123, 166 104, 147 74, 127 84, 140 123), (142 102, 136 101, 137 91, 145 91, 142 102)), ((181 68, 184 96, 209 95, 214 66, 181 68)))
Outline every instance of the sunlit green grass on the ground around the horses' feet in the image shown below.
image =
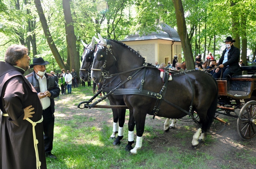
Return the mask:
MULTIPOLYGON (((195 131, 195 125, 192 122, 179 129, 169 131, 172 132, 170 140, 172 138, 178 139, 179 146, 183 148, 175 144, 167 145, 164 142, 161 147, 154 147, 154 144, 156 144, 155 139, 159 140, 166 133, 150 124, 145 125, 143 147, 137 155, 131 155, 129 152, 124 151, 124 147, 127 144, 127 126, 124 129, 124 138, 121 140, 121 145, 113 146, 113 140, 109 138, 112 133, 112 123, 107 121, 112 119, 111 110, 99 109, 100 113, 107 113, 105 117, 108 119, 103 118, 100 127, 97 127, 96 125, 87 125, 87 122, 93 123, 96 121, 96 117, 90 115, 89 109, 77 108, 79 102, 91 98, 93 95, 91 90, 92 87, 72 88, 72 94, 67 95, 67 98, 61 95, 60 98, 55 99, 56 106, 59 106, 60 109, 55 112, 52 153, 58 159, 51 160, 47 158, 48 169, 208 169, 212 166, 216 166, 215 168, 236 166, 232 163, 216 162, 220 159, 216 159, 210 151, 210 146, 218 145, 216 136, 206 136, 204 146, 209 147, 209 150, 192 150, 190 147, 191 141, 187 142, 185 139, 192 139, 195 131), (187 148, 184 149, 184 147, 187 148)), ((103 100, 101 104, 108 104, 108 101, 103 100)), ((129 110, 126 110, 125 120, 127 121, 128 119, 129 110)), ((157 126, 162 128, 163 123, 160 122, 157 126)), ((220 161, 229 161, 235 158, 244 160, 252 165, 256 164, 256 158, 247 155, 246 152, 237 152, 235 156, 227 152, 222 154, 222 157, 220 157, 222 158, 220 161)))

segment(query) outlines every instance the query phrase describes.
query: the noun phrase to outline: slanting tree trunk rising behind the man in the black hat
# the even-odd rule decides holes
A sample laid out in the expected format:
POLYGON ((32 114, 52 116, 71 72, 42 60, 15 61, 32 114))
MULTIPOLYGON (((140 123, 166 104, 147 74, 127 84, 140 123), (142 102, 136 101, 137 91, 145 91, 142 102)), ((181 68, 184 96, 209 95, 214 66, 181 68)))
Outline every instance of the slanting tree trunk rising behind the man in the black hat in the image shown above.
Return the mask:
POLYGON ((66 65, 64 64, 62 58, 61 58, 61 55, 59 54, 59 51, 58 49, 56 48, 55 46, 55 43, 53 41, 53 38, 51 36, 51 33, 49 31, 49 27, 48 27, 48 24, 47 24, 47 21, 46 21, 46 18, 45 18, 45 14, 44 14, 44 11, 42 9, 42 5, 41 5, 41 1, 40 0, 34 0, 34 3, 35 3, 35 7, 37 9, 37 13, 39 15, 39 18, 40 18, 40 22, 42 24, 42 28, 44 30, 44 33, 45 33, 45 37, 47 39, 47 42, 48 42, 48 45, 53 53, 53 56, 56 60, 56 62, 58 63, 59 67, 61 69, 66 69, 66 65))

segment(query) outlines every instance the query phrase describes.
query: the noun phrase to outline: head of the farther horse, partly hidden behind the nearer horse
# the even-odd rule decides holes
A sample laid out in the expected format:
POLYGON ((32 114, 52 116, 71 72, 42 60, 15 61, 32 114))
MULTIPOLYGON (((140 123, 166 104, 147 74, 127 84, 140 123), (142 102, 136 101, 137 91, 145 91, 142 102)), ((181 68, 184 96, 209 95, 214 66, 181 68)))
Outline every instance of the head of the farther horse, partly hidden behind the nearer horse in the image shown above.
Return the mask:
POLYGON ((84 53, 81 57, 81 68, 80 68, 80 78, 84 81, 87 82, 89 78, 91 77, 90 75, 90 68, 91 64, 93 62, 93 53, 95 50, 95 37, 92 37, 92 42, 87 45, 83 41, 81 41, 83 46, 84 46, 84 53))

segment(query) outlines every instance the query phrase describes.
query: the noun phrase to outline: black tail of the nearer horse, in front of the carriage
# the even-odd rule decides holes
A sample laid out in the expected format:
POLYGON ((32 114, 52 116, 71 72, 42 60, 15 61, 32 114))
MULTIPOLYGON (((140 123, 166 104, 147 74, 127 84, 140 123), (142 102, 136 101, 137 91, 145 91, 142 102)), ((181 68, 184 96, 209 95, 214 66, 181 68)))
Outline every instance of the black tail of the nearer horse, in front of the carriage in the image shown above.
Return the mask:
MULTIPOLYGON (((207 131, 209 130, 211 123, 214 121, 214 116, 216 113, 216 108, 217 108, 217 103, 218 103, 218 84, 217 81, 214 79, 215 83, 216 83, 216 88, 217 88, 217 92, 214 98, 214 101, 212 101, 209 109, 207 110, 207 131)), ((207 132, 205 131, 205 132, 207 132)))

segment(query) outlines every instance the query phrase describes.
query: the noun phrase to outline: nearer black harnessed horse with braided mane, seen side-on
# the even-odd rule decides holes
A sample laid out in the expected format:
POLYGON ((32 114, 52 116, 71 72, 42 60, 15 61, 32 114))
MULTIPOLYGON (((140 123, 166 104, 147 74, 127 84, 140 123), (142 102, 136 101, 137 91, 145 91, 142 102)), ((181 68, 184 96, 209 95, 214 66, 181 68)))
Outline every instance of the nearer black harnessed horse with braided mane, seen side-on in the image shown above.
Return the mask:
POLYGON ((216 80, 202 71, 189 71, 173 73, 172 81, 164 85, 160 71, 148 66, 135 50, 123 43, 105 40, 100 35, 99 39, 91 69, 92 79, 99 83, 103 77, 114 76, 109 73, 113 66, 119 72, 124 86, 119 93, 124 94, 124 102, 130 108, 128 125, 135 127, 136 124, 137 141, 131 153, 137 154, 137 150, 142 147, 147 113, 166 118, 182 118, 196 111, 200 119, 196 122, 200 128, 193 136, 192 146, 197 146, 198 139, 204 139, 215 115, 218 99, 216 80))

